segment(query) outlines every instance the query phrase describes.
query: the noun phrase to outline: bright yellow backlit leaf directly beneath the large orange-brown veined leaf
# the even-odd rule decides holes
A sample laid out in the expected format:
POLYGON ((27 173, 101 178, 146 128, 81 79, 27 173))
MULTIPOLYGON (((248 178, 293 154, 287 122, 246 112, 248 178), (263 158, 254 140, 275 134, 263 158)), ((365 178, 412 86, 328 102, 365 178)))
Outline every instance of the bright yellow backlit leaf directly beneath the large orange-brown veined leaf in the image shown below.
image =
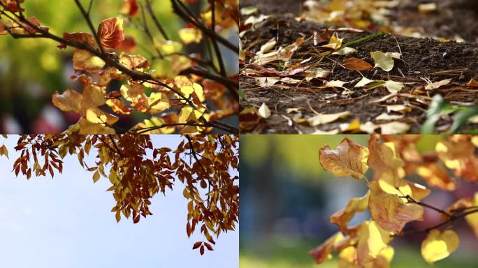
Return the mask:
POLYGON ((391 232, 380 228, 375 221, 364 221, 357 232, 357 263, 365 265, 372 262, 387 248, 391 232))

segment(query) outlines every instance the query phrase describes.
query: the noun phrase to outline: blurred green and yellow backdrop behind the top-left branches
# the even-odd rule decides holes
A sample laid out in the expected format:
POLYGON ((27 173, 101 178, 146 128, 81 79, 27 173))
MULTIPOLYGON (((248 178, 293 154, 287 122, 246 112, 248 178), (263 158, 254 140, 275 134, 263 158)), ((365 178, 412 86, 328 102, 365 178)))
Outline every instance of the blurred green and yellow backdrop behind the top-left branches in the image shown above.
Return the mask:
MULTIPOLYGON (((185 24, 173 13, 170 0, 154 0, 152 8, 161 25, 171 40, 180 41, 178 30, 185 24)), ((87 7, 89 1, 82 1, 87 7)), ((143 1, 138 1, 143 3, 143 1)), ((188 4, 191 10, 199 13, 204 1, 188 4)), ((42 26, 50 27, 50 32, 62 36, 64 32, 86 32, 89 28, 73 0, 25 1, 22 7, 27 10, 27 16, 35 16, 42 26)), ((92 22, 95 26, 108 17, 119 16, 122 0, 94 1, 92 7, 92 22)), ((140 25, 141 15, 136 15, 133 22, 140 25)), ((150 29, 156 30, 149 16, 147 22, 150 29)), ((130 54, 141 54, 150 59, 152 47, 150 41, 138 26, 124 22, 126 36, 136 39, 136 50, 130 54)), ((157 34, 157 32, 153 32, 157 34)), ((238 37, 233 30, 223 35, 233 43, 238 43, 238 37)), ((0 133, 59 133, 75 124, 78 114, 61 112, 51 102, 52 94, 66 89, 80 89, 79 84, 71 82, 73 65, 71 57, 73 48, 59 50, 58 43, 41 38, 15 40, 8 35, 0 36, 0 133)), ((205 50, 196 44, 187 45, 185 52, 205 50)), ((228 73, 238 73, 237 55, 221 46, 228 73)), ((158 60, 159 61, 159 60, 158 60)), ((154 61, 150 61, 154 66, 154 61)), ((117 85, 119 87, 119 85, 117 85)), ((81 90, 81 89, 80 89, 81 90)), ((131 128, 143 121, 144 114, 132 113, 120 119, 117 126, 131 128)), ((228 124, 237 125, 237 119, 228 119, 228 124)))

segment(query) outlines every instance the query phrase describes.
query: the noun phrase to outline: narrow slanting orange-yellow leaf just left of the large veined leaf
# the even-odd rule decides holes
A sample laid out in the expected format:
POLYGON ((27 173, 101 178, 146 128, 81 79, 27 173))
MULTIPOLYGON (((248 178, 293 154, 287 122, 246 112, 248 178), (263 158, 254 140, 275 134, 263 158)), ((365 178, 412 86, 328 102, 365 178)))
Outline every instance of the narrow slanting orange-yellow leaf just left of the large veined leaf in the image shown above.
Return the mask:
POLYGON ((347 223, 349 223, 352 218, 354 218, 357 212, 365 211, 368 208, 368 197, 370 195, 370 191, 368 191, 363 197, 361 198, 352 198, 347 203, 347 207, 344 209, 340 209, 340 211, 335 212, 332 214, 330 221, 331 223, 335 223, 338 225, 340 231, 346 232, 347 231, 347 223))

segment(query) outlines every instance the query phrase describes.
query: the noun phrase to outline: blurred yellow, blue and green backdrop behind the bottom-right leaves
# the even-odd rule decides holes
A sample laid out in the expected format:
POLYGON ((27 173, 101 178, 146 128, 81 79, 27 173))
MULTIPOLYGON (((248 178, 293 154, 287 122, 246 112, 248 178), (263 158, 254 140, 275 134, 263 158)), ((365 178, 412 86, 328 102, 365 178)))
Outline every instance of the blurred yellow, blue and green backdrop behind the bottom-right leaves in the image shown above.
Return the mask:
MULTIPOLYGON (((307 251, 338 231, 328 218, 345 207, 350 198, 367 192, 365 181, 338 178, 319 163, 319 149, 335 149, 344 137, 367 146, 368 135, 241 135, 240 162, 240 267, 337 267, 335 260, 318 266, 307 251)), ((433 151, 441 135, 424 135, 421 152, 433 151)), ((424 184, 419 177, 407 177, 424 184)), ((445 208, 459 198, 472 196, 476 186, 461 181, 453 193, 433 189, 423 200, 445 208)), ((426 228, 440 222, 426 209, 426 221, 407 228, 426 228)), ((370 218, 356 215, 349 225, 370 218)), ((458 250, 434 267, 477 267, 478 239, 465 221, 454 225, 461 239, 458 250)), ((430 267, 421 257, 423 234, 393 241, 391 267, 430 267)))

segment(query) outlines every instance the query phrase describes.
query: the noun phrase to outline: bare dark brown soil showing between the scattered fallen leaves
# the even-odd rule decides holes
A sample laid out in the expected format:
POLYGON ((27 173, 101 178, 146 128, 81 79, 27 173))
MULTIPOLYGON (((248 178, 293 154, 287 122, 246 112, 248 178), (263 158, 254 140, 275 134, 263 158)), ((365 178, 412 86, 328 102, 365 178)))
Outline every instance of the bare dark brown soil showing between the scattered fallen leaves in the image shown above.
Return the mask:
MULTIPOLYGON (((438 1, 440 13, 426 15, 416 13, 417 17, 413 17, 412 13, 417 10, 416 5, 420 1, 408 1, 400 5, 396 10, 397 23, 403 25, 417 26, 426 29, 426 32, 434 36, 442 36, 451 38, 458 34, 469 42, 474 42, 478 38, 478 3, 473 6, 460 5, 460 1, 438 1), (413 2, 413 3, 412 3, 413 2), (448 5, 448 6, 447 6, 448 5), (447 13, 448 15, 443 15, 447 13), (407 14, 403 15, 403 14, 407 14), (465 14, 465 15, 461 15, 465 14), (475 14, 472 16, 471 14, 475 14), (431 17, 429 17, 431 16, 431 17), (420 19, 418 19, 420 18, 420 19), (465 26, 466 27, 465 27, 465 26)), ((468 1, 469 3, 470 1, 468 1)), ((472 1, 475 2, 475 1, 472 1)), ((298 38, 301 34, 307 37, 311 36, 314 31, 322 33, 325 31, 324 25, 309 21, 301 21, 295 19, 300 10, 298 1, 296 0, 242 0, 242 6, 256 6, 261 13, 270 14, 267 20, 260 22, 254 26, 253 31, 247 31, 242 36, 242 47, 247 51, 255 53, 259 51, 261 45, 266 43, 270 38, 277 38, 277 47, 287 46, 298 38), (295 13, 284 14, 287 12, 295 13)), ((355 33, 349 31, 338 32, 340 38, 345 38, 344 43, 356 40, 363 36, 369 36, 370 32, 355 33)), ((261 124, 256 128, 244 131, 254 133, 312 133, 314 128, 291 123, 291 115, 287 114, 288 108, 301 108, 305 116, 313 116, 310 109, 323 114, 333 114, 336 112, 351 112, 351 116, 347 119, 340 119, 332 124, 319 126, 320 131, 331 131, 338 128, 339 124, 350 122, 354 119, 360 119, 361 123, 367 121, 375 121, 375 118, 386 112, 387 105, 407 105, 411 108, 402 121, 410 125, 409 133, 419 133, 421 124, 426 119, 426 110, 430 105, 430 97, 435 94, 441 94, 445 100, 456 105, 475 105, 477 104, 477 89, 472 87, 464 87, 471 78, 478 79, 478 44, 477 43, 441 43, 431 38, 409 38, 405 36, 394 36, 388 34, 373 40, 369 40, 358 45, 352 45, 359 50, 352 56, 331 56, 321 61, 321 68, 332 70, 332 73, 326 77, 327 81, 342 80, 347 82, 358 82, 361 75, 354 70, 347 70, 340 66, 343 59, 347 57, 356 57, 373 63, 370 57, 372 51, 382 52, 399 52, 403 54, 403 61, 396 60, 395 67, 389 73, 381 69, 374 69, 361 72, 365 77, 373 80, 393 80, 404 82, 407 87, 400 91, 403 94, 410 94, 409 97, 391 98, 381 103, 370 103, 383 96, 390 94, 384 88, 372 89, 365 91, 363 89, 353 89, 353 93, 343 96, 341 93, 344 89, 319 89, 324 84, 324 80, 314 79, 310 82, 304 82, 295 85, 286 86, 284 84, 276 84, 270 87, 258 87, 256 80, 252 75, 240 76, 240 87, 244 91, 246 100, 242 101, 242 107, 259 107, 262 103, 266 103, 273 116, 267 120, 262 120, 261 124), (339 63, 339 64, 338 64, 339 63), (433 82, 444 79, 452 79, 452 82, 446 87, 434 89, 431 91, 418 91, 426 85, 421 77, 427 77, 433 82), (418 92, 418 93, 417 93, 418 92), (413 98, 419 94, 420 98, 413 98)), ((307 59, 313 57, 314 45, 305 43, 298 52, 294 54, 294 59, 307 59)), ((243 70, 247 67, 247 59, 245 64, 240 67, 243 70)), ((270 67, 270 66, 268 66, 270 67)), ((267 76, 267 75, 262 75, 267 76)), ((292 77, 301 79, 303 77, 292 77)), ((352 83, 350 83, 352 84, 352 83)), ((447 118, 441 119, 437 124, 437 130, 446 130, 451 121, 447 118)), ((476 129, 477 125, 469 124, 466 128, 476 129)))

